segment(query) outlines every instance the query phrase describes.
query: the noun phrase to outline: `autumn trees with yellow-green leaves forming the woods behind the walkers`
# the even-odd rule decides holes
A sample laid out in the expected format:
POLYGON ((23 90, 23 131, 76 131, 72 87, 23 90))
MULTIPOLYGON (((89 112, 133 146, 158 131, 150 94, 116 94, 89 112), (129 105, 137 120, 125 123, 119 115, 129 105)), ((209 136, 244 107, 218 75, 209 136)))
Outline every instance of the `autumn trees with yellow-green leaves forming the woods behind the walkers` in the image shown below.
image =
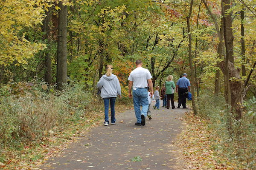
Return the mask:
POLYGON ((154 86, 187 73, 193 113, 223 116, 241 142, 255 136, 255 35, 256 0, 0 0, 0 102, 37 83, 44 95, 70 85, 93 96, 108 64, 127 97, 141 59, 154 86), (203 111, 205 100, 225 114, 203 111))

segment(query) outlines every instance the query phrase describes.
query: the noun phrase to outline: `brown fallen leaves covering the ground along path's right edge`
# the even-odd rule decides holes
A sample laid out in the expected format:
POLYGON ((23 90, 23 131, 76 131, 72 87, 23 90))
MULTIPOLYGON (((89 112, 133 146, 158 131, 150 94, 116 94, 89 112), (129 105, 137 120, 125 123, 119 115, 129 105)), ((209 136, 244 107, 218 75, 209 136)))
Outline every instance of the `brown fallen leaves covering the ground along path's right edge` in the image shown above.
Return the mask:
POLYGON ((180 148, 183 170, 247 170, 232 164, 212 146, 218 144, 218 136, 209 130, 209 123, 192 112, 184 116, 184 128, 175 145, 180 148))

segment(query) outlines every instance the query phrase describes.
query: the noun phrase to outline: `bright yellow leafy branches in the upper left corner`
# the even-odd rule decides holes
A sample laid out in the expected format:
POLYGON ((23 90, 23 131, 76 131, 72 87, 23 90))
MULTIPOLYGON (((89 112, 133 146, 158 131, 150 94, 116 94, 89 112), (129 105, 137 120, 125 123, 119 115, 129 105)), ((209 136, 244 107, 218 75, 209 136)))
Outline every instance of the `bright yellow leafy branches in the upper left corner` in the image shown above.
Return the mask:
POLYGON ((26 64, 26 60, 46 48, 26 40, 24 28, 42 24, 45 0, 0 1, 0 65, 26 64))

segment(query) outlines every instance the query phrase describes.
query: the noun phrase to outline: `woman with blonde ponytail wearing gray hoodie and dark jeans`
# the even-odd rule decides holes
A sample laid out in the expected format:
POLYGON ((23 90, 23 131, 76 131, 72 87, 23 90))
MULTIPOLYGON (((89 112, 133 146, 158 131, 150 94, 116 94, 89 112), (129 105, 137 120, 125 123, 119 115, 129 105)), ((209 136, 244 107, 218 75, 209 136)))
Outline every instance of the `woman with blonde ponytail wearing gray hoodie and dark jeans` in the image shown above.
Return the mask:
POLYGON ((97 83, 97 88, 101 89, 100 96, 104 100, 105 105, 105 122, 104 126, 109 125, 108 121, 108 108, 110 101, 111 108, 111 124, 114 125, 116 123, 115 119, 115 102, 116 97, 119 96, 121 98, 121 86, 116 75, 112 74, 112 65, 107 65, 107 73, 103 75, 99 82, 97 83))

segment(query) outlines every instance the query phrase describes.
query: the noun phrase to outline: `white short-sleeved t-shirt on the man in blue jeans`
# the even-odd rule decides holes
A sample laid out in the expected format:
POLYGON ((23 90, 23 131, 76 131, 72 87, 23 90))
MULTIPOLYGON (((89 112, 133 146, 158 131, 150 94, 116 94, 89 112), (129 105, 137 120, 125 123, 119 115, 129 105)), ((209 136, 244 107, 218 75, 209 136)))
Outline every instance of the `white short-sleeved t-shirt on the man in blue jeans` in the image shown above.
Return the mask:
POLYGON ((146 88, 148 87, 148 79, 151 78, 152 76, 148 69, 138 67, 131 71, 128 80, 133 82, 134 88, 146 88))

